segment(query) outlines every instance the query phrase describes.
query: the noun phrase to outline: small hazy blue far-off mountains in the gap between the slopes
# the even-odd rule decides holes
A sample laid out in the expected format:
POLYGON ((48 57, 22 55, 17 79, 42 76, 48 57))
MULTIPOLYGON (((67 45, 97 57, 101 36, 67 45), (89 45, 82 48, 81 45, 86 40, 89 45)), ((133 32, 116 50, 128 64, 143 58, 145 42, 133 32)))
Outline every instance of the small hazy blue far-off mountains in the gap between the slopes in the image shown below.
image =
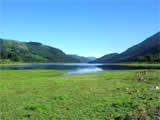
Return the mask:
POLYGON ((96 57, 84 57, 84 56, 78 56, 78 55, 69 55, 77 60, 80 60, 81 62, 84 62, 84 63, 88 63, 92 60, 95 60, 96 57))

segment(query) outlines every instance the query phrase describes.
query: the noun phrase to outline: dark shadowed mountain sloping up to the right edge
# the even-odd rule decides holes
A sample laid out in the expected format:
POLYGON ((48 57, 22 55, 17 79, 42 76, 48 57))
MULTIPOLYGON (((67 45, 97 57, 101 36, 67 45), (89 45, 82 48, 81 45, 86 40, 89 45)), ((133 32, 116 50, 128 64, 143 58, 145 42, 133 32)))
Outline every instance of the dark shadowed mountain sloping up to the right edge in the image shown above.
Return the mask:
POLYGON ((103 56, 93 62, 160 62, 160 32, 121 54, 115 54, 115 56, 110 55, 103 56))

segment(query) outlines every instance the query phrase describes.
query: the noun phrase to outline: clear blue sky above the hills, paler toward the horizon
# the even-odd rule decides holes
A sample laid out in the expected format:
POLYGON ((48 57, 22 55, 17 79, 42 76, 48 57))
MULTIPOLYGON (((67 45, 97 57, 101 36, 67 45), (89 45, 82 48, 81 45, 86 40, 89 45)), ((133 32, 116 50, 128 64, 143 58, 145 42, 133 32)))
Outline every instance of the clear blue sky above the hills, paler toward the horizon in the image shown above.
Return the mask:
POLYGON ((159 0, 0 0, 0 38, 102 56, 160 29, 159 0))

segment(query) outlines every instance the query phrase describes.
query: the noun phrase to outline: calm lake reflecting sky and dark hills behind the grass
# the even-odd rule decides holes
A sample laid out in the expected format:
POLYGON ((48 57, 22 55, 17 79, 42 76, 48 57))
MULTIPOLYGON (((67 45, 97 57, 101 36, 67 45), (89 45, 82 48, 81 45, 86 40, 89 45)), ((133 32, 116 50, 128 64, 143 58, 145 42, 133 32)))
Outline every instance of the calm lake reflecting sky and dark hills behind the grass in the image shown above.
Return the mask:
MULTIPOLYGON (((0 66, 0 69, 54 69, 66 70, 63 75, 96 73, 104 70, 132 70, 145 69, 142 67, 128 67, 113 64, 88 64, 88 63, 43 63, 0 66)), ((150 68, 151 69, 151 68, 150 68)))

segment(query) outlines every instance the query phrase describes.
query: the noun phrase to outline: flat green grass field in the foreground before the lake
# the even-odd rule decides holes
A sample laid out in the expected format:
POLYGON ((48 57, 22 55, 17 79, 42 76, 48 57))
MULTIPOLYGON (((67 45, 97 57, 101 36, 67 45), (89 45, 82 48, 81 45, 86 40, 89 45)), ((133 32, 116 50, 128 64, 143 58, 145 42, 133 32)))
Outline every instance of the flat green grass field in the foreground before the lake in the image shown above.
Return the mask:
POLYGON ((0 70, 0 120, 153 119, 160 116, 160 70, 141 71, 0 70))

